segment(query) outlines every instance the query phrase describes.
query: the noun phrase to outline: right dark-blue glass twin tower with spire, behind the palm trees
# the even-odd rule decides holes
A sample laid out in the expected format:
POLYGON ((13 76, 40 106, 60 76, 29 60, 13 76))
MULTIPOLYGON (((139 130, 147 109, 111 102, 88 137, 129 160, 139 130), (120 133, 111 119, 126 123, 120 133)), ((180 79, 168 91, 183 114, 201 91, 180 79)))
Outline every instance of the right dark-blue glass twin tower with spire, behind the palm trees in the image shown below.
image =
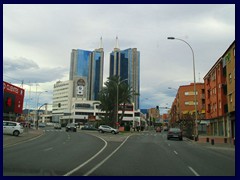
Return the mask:
POLYGON ((118 37, 116 37, 116 46, 110 54, 110 74, 109 76, 118 75, 120 78, 128 79, 128 84, 134 91, 132 102, 135 110, 139 109, 140 94, 140 52, 137 48, 120 50, 118 37))

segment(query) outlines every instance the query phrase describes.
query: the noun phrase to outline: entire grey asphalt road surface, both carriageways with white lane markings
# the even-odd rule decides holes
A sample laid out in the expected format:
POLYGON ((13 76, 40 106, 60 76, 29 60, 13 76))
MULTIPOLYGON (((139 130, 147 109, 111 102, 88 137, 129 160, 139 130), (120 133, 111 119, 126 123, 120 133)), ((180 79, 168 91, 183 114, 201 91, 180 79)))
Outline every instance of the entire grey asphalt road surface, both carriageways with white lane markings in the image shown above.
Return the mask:
POLYGON ((3 149, 3 175, 234 176, 235 151, 167 140, 164 132, 46 129, 33 141, 3 149))

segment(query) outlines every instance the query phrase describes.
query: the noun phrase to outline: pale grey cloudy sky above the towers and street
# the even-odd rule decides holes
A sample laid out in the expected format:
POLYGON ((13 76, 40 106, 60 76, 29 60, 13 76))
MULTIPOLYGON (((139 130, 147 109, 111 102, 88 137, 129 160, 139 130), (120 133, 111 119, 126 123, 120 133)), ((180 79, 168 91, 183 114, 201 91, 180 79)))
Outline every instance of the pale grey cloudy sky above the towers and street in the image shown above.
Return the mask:
MULTIPOLYGON (((3 5, 3 80, 26 89, 25 105, 52 102, 53 85, 69 79, 72 49, 103 39, 104 81, 115 47, 140 51, 140 107, 170 107, 176 90, 203 77, 235 40, 234 4, 3 5), (172 87, 172 89, 168 89, 172 87), (30 91, 31 88, 31 91, 30 91), (31 94, 29 94, 31 92, 31 94), (37 92, 37 93, 36 93, 37 92)), ((161 110, 164 112, 164 110, 161 110)))

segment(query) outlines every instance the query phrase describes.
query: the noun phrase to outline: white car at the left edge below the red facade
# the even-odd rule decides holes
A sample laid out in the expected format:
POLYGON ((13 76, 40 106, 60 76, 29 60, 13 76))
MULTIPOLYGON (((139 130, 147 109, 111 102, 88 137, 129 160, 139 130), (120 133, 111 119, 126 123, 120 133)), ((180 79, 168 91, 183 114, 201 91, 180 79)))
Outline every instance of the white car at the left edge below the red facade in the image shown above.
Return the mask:
POLYGON ((23 133, 23 126, 14 121, 3 121, 3 134, 19 136, 23 133))

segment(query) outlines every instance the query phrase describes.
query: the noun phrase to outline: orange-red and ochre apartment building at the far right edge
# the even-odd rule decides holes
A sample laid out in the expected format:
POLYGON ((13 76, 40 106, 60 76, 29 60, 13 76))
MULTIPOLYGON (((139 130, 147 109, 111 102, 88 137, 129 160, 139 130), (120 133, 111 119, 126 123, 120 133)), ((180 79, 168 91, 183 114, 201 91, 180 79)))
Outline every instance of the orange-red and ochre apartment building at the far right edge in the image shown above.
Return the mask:
POLYGON ((204 77, 206 119, 219 142, 235 137, 235 41, 204 77))

